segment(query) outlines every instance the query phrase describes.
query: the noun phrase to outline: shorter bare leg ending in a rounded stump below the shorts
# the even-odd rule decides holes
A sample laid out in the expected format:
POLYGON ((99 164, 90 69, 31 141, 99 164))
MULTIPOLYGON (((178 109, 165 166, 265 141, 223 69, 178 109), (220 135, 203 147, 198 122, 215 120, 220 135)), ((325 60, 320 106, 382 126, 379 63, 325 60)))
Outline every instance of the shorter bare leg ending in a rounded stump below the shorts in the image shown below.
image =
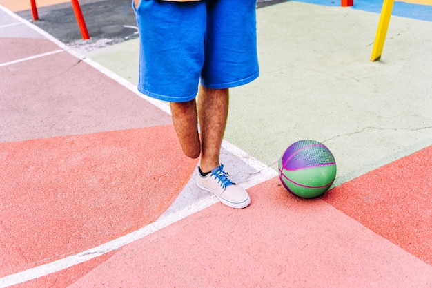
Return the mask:
POLYGON ((195 99, 189 102, 171 102, 171 113, 177 137, 183 153, 190 158, 197 158, 201 151, 198 134, 197 103, 195 99))

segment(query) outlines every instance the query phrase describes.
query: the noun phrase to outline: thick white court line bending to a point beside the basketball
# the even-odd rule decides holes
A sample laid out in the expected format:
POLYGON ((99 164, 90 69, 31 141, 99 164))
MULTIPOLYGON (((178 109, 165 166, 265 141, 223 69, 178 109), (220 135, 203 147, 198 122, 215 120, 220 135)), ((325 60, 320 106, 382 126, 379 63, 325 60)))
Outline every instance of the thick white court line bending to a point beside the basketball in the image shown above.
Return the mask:
MULTIPOLYGON (((88 59, 88 58, 84 57, 83 55, 79 55, 79 53, 75 52, 74 50, 71 50, 65 44, 63 44, 61 41, 52 37, 52 35, 49 35, 47 32, 41 30, 39 27, 26 21, 25 19, 22 19, 18 15, 15 15, 14 13, 7 10, 6 8, 3 8, 3 6, 1 6, 1 5, 0 5, 0 10, 3 10, 3 12, 6 12, 11 17, 18 19, 22 23, 26 24, 26 26, 28 26, 29 28, 32 28, 36 32, 39 32, 39 34, 43 35, 44 37, 46 37, 50 41, 57 44, 61 48, 61 50, 59 50, 59 52, 61 52, 61 51, 69 52, 71 55, 77 57, 78 59, 81 59, 82 61, 86 62, 87 64, 89 64, 93 68, 99 70, 104 75, 110 77, 111 79, 117 81, 119 84, 121 84, 124 87, 128 88, 129 90, 133 91, 134 93, 139 95, 139 97, 142 97, 146 101, 157 106, 157 108, 168 113, 168 115, 171 114, 169 106, 166 105, 164 102, 161 102, 157 99, 153 99, 150 97, 146 97, 145 95, 142 95, 141 93, 139 93, 137 91, 136 86, 131 84, 129 81, 125 80, 124 78, 119 77, 119 75, 117 75, 115 73, 112 73, 111 70, 108 70, 104 66, 97 64, 95 61, 92 61, 91 59, 88 59)), ((256 169, 258 171, 255 175, 253 175, 253 177, 250 177, 246 182, 242 183, 242 186, 244 186, 245 189, 248 189, 251 186, 255 186, 256 184, 264 182, 268 179, 271 179, 272 177, 275 177, 275 175, 277 175, 276 171, 269 168, 268 166, 266 166, 262 162, 259 162, 255 158, 251 157, 251 155, 248 155, 248 153, 242 151, 241 149, 237 148, 233 144, 226 142, 225 140, 222 142, 222 148, 225 148, 228 152, 232 153, 236 157, 239 157, 241 160, 246 162, 246 164, 248 164, 249 166, 252 166, 254 169, 256 169)), ((132 233, 126 234, 125 236, 121 236, 120 238, 117 238, 117 239, 112 240, 110 242, 107 242, 105 244, 101 244, 101 245, 94 247, 92 249, 88 249, 88 250, 83 251, 81 253, 77 253, 75 255, 68 256, 66 258, 62 258, 62 259, 47 263, 45 265, 40 265, 40 266, 33 267, 33 268, 30 268, 30 269, 27 269, 27 270, 24 270, 24 271, 21 271, 18 273, 4 276, 3 278, 0 278, 0 288, 6 288, 6 287, 9 287, 12 285, 17 285, 19 283, 26 282, 28 280, 47 276, 51 273, 61 271, 63 269, 75 266, 75 265, 82 263, 82 262, 86 262, 88 260, 91 260, 92 258, 102 256, 105 253, 108 253, 110 251, 115 251, 115 250, 125 246, 126 244, 129 244, 130 242, 134 242, 136 240, 144 238, 145 236, 148 236, 150 233, 154 233, 155 231, 158 231, 164 227, 167 227, 170 224, 173 224, 173 223, 175 223, 181 219, 184 219, 184 218, 188 217, 189 215, 192 215, 193 213, 197 213, 198 211, 206 209, 210 205, 213 205, 217 202, 219 202, 219 200, 217 200, 217 198, 213 197, 213 195, 209 195, 207 198, 204 198, 202 200, 199 200, 198 202, 190 204, 187 207, 184 207, 183 209, 176 211, 175 213, 168 214, 168 215, 162 215, 161 218, 159 218, 158 220, 156 220, 152 224, 147 225, 146 227, 143 227, 137 231, 133 231, 132 233)))

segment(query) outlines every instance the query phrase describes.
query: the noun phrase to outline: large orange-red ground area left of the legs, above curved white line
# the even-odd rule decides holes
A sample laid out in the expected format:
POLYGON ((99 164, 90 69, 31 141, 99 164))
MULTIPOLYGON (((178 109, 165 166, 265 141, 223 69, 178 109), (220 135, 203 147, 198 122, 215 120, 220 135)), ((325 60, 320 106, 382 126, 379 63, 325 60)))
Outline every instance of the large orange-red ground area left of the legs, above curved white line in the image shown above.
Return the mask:
POLYGON ((196 164, 171 125, 0 143, 0 277, 150 224, 196 164))

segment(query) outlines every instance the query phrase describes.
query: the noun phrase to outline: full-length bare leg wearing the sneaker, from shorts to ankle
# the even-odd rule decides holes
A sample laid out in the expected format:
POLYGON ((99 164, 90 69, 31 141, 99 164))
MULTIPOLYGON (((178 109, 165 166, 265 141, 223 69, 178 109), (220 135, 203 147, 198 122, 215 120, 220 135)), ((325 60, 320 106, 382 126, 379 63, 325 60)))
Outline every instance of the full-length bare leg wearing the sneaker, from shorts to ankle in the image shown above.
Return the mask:
POLYGON ((201 163, 203 172, 219 166, 219 153, 228 117, 228 89, 199 87, 198 117, 201 127, 201 163))

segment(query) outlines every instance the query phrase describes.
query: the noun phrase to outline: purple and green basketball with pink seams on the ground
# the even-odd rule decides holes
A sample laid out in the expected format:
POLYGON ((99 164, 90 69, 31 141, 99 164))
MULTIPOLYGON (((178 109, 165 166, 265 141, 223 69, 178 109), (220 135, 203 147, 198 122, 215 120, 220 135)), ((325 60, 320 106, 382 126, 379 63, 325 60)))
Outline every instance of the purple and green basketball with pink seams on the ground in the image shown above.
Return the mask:
POLYGON ((315 140, 291 144, 279 158, 279 179, 290 193, 301 198, 324 194, 336 177, 331 151, 315 140))

